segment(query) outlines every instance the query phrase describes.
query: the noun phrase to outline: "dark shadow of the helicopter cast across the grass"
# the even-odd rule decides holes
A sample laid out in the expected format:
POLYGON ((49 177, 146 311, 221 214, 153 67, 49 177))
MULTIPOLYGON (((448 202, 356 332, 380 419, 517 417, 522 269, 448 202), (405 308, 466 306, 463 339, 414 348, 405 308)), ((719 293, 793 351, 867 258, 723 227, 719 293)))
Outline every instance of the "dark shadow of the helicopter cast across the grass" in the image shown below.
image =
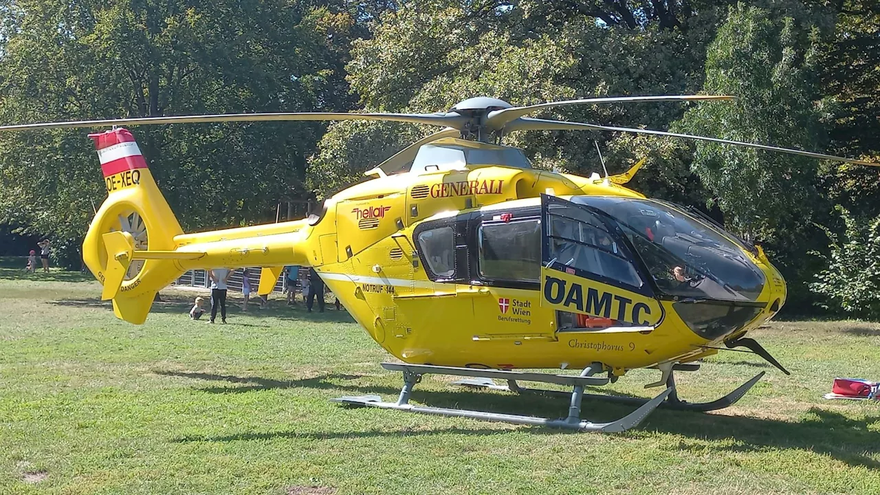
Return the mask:
MULTIPOLYGON (((154 371, 165 376, 179 376, 199 380, 219 380, 242 384, 238 387, 196 388, 212 394, 247 393, 270 388, 317 388, 355 393, 357 395, 396 396, 400 388, 374 385, 358 385, 353 380, 363 375, 326 373, 303 380, 272 380, 260 377, 239 377, 212 373, 181 373, 154 371), (347 383, 339 383, 339 381, 347 383)), ((627 395, 604 391, 607 395, 627 395)), ((419 390, 416 387, 411 401, 432 407, 450 409, 485 410, 508 414, 537 417, 564 416, 568 400, 552 396, 515 395, 472 390, 419 390)), ((632 406, 607 403, 601 400, 584 400, 583 418, 591 421, 611 421, 633 411, 632 406)), ((402 414, 402 413, 401 413, 402 414)), ((680 410, 655 410, 634 430, 624 437, 646 438, 656 432, 682 437, 671 448, 694 453, 705 452, 761 452, 771 449, 791 449, 832 456, 840 462, 869 469, 880 469, 874 457, 880 454, 880 431, 873 426, 880 423, 880 415, 863 418, 846 417, 833 410, 811 407, 803 418, 786 421, 765 417, 726 416, 680 410), (718 441, 728 440, 728 441, 718 441), (732 442, 730 440, 733 440, 732 442)), ((544 427, 519 427, 517 431, 531 434, 584 434, 544 427)), ((309 438, 326 440, 333 438, 362 438, 401 435, 436 435, 443 433, 466 435, 503 434, 506 430, 491 428, 447 428, 419 431, 369 431, 369 432, 242 432, 223 437, 184 437, 176 441, 235 441, 266 440, 273 438, 309 438)))

